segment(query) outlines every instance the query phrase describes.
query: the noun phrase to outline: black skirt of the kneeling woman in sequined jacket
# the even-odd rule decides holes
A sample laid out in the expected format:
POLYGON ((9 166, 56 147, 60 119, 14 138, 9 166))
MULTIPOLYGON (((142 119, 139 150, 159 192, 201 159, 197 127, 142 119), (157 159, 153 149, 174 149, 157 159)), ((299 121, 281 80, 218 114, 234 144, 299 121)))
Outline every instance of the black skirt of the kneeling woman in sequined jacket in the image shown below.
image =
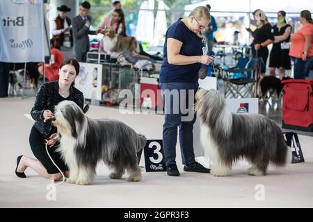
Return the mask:
MULTIPOLYGON (((52 133, 51 133, 52 134, 52 133)), ((31 145, 31 151, 33 155, 41 162, 41 164, 47 169, 49 174, 60 173, 53 162, 50 160, 45 145, 45 137, 39 133, 39 131, 33 126, 31 128, 31 134, 29 135, 29 144, 31 145)), ((62 160, 60 153, 56 152, 55 144, 52 147, 48 146, 49 155, 52 157, 56 165, 61 169, 61 171, 67 171, 68 167, 65 162, 62 160)))

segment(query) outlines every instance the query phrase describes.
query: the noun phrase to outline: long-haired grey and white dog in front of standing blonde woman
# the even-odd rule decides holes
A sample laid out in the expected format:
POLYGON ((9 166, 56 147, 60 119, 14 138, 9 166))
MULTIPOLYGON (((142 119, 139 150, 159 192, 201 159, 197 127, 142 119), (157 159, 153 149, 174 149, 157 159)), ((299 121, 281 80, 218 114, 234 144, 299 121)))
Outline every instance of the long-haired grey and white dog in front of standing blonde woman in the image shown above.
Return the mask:
POLYGON ((282 130, 271 119, 261 114, 229 112, 225 99, 215 89, 199 89, 195 99, 200 139, 214 176, 227 176, 232 164, 241 158, 252 164, 248 174, 255 176, 265 175, 270 163, 283 167, 291 161, 282 130))

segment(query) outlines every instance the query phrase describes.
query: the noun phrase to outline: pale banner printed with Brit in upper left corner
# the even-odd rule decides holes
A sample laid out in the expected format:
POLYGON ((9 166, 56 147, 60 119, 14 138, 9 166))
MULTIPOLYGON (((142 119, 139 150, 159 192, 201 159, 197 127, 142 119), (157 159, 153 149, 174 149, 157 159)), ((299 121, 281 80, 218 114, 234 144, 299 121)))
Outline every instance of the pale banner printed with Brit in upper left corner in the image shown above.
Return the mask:
POLYGON ((0 1, 0 61, 44 61, 42 0, 0 1))

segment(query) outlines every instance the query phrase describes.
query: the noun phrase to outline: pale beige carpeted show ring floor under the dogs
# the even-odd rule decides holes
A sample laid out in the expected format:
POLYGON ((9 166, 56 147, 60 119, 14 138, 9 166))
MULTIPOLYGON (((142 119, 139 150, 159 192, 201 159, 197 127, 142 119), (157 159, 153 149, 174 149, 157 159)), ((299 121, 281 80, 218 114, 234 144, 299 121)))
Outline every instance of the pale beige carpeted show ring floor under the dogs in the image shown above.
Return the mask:
MULTIPOLYGON (((109 169, 99 164, 93 185, 64 183, 56 186, 56 200, 47 200, 49 180, 31 169, 23 179, 14 173, 18 155, 33 157, 29 147, 33 123, 24 116, 33 102, 34 98, 0 99, 0 207, 313 207, 313 137, 303 135, 299 138, 306 161, 283 169, 271 167, 267 176, 246 175, 245 162, 225 178, 186 173, 177 145, 180 177, 143 171, 142 182, 127 182, 125 176, 111 180, 109 169), (259 185, 264 186, 264 200, 255 198, 259 185)), ((119 119, 148 139, 161 139, 162 115, 123 115, 115 108, 92 106, 88 116, 119 119)))

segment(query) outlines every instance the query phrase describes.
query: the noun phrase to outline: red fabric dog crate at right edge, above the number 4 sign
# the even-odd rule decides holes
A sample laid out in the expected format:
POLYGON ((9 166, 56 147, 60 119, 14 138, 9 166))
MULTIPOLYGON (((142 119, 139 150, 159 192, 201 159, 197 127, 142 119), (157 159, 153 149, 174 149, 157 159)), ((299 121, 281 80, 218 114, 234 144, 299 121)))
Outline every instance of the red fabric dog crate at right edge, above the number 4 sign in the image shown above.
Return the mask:
POLYGON ((313 131, 313 80, 283 80, 282 128, 313 131))

